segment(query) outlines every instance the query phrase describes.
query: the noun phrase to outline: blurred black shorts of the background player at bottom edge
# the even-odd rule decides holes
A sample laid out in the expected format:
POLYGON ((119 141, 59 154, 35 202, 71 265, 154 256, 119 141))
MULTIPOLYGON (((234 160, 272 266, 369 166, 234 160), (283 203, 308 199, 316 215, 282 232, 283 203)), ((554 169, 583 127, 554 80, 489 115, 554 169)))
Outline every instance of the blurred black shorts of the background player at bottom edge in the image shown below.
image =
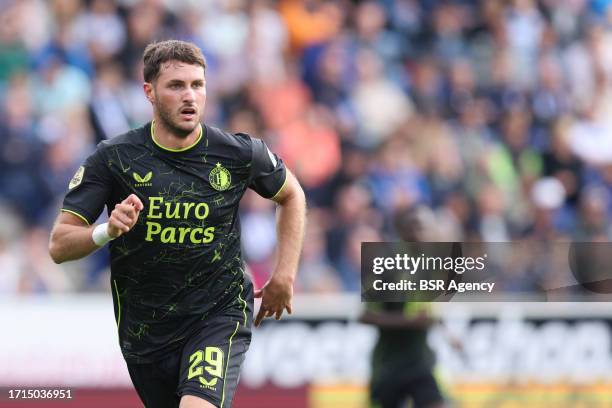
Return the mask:
POLYGON ((372 379, 370 401, 373 408, 400 408, 407 400, 412 400, 414 408, 427 408, 444 401, 431 372, 416 376, 398 372, 385 377, 372 379))

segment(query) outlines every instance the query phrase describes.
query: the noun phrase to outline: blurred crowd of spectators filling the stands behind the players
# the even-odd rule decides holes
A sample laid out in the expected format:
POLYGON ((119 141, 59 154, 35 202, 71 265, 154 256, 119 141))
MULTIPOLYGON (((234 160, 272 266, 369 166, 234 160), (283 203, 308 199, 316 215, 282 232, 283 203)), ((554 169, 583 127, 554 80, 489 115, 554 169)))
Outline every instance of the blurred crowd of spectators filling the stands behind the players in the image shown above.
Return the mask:
MULTIPOLYGON (((53 219, 106 138, 151 119, 142 52, 207 57, 205 121, 263 138, 306 190, 297 292, 357 292, 363 241, 421 205, 429 241, 607 241, 612 1, 1 0, 0 293, 96 291, 53 219)), ((257 283, 274 205, 241 221, 257 283)), ((399 223, 401 224, 401 223, 399 223)))

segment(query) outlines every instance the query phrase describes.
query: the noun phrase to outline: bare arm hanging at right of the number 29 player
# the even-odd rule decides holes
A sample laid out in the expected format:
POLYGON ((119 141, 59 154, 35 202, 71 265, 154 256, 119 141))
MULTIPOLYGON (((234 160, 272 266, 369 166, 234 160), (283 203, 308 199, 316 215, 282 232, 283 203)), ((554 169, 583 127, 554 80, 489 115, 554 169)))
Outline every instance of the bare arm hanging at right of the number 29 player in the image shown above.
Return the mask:
POLYGON ((275 316, 278 320, 283 310, 292 312, 293 282, 304 241, 306 198, 302 187, 289 170, 285 187, 272 199, 279 204, 276 211, 277 263, 268 282, 255 291, 255 297, 262 298, 255 318, 256 326, 264 317, 275 316))

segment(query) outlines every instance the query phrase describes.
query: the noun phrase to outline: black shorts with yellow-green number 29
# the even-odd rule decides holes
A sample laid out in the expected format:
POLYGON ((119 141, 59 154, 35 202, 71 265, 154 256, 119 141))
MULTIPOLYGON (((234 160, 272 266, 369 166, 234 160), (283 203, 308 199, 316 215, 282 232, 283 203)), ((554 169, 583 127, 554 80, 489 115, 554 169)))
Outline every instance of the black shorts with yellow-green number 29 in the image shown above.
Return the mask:
POLYGON ((146 408, 179 406, 195 395, 216 407, 231 407, 240 367, 251 343, 252 309, 211 318, 182 351, 150 364, 129 364, 134 387, 146 408))

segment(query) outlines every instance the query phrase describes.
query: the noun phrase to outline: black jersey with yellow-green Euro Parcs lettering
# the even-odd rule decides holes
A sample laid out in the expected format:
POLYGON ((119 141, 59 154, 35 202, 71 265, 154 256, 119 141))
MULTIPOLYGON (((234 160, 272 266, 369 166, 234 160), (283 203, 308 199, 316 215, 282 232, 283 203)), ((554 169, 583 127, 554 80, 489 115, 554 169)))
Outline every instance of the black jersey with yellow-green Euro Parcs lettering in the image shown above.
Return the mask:
POLYGON ((111 241, 119 342, 130 362, 151 362, 228 308, 246 309, 238 203, 247 187, 273 198, 282 161, 259 139, 202 126, 181 150, 161 147, 151 123, 100 143, 70 182, 63 211, 93 224, 131 193, 137 224, 111 241))

